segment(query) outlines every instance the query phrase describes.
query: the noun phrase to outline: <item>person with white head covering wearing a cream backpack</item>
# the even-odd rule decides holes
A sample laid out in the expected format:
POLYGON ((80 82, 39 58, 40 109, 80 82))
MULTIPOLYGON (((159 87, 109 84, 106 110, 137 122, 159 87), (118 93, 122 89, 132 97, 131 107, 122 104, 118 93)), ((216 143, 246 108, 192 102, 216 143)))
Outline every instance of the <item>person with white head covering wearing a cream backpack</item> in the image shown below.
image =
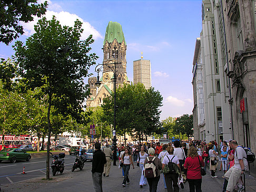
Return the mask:
POLYGON ((149 148, 147 151, 149 157, 144 161, 144 176, 146 177, 147 183, 149 183, 150 192, 156 192, 157 184, 160 179, 160 170, 162 170, 162 163, 159 158, 155 157, 155 150, 149 148))

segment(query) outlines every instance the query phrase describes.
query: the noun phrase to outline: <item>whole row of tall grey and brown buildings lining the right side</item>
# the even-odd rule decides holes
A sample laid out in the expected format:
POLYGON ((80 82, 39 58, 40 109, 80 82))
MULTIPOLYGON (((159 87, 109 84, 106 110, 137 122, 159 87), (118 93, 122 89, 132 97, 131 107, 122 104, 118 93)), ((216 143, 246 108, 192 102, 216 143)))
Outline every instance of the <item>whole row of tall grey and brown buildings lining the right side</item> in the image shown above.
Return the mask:
POLYGON ((201 55, 206 141, 235 139, 256 153, 256 1, 203 0, 200 41, 193 62, 195 139, 203 138, 196 94, 201 55))

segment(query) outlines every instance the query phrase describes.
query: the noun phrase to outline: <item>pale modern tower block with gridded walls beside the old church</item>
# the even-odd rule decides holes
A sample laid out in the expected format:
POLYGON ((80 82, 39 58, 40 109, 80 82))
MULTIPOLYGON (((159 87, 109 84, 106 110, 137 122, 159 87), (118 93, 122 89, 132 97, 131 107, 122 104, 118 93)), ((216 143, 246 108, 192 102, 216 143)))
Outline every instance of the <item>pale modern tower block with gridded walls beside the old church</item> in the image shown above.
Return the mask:
POLYGON ((133 62, 133 83, 140 82, 146 89, 149 89, 151 87, 151 63, 150 60, 142 58, 133 62))

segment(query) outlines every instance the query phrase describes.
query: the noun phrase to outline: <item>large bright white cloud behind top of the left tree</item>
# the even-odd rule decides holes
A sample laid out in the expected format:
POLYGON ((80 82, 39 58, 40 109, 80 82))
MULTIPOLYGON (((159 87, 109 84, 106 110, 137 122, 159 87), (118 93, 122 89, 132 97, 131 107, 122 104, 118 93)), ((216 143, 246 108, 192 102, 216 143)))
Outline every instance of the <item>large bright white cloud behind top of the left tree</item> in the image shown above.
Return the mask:
MULTIPOLYGON (((76 21, 76 19, 78 19, 83 23, 82 28, 84 29, 84 31, 81 36, 82 40, 85 40, 91 34, 93 35, 94 39, 103 38, 102 35, 90 23, 83 21, 81 17, 78 17, 76 14, 61 11, 61 6, 58 4, 53 4, 51 1, 48 2, 48 4, 49 4, 49 9, 53 9, 54 11, 48 10, 45 13, 44 16, 46 17, 47 20, 52 19, 54 15, 56 19, 60 21, 60 24, 62 26, 66 25, 66 26, 72 27, 74 26, 74 22, 76 21), (59 12, 55 12, 55 11, 59 11, 59 12)), ((29 22, 29 23, 21 22, 21 24, 24 27, 25 35, 30 36, 33 33, 35 33, 34 25, 38 22, 38 19, 39 19, 38 17, 35 17, 34 21, 32 22, 29 22)))

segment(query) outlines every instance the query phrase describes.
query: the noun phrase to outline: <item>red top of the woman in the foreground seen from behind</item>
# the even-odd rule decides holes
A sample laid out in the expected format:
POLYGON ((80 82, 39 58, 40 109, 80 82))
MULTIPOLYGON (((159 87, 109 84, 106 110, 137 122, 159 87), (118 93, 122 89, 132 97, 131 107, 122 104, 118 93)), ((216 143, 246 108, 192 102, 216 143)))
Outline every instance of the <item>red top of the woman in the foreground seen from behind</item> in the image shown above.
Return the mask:
POLYGON ((188 179, 202 179, 201 167, 204 166, 203 158, 199 155, 198 157, 187 157, 185 160, 184 168, 188 169, 186 178, 188 179), (198 160, 200 159, 200 163, 198 160), (201 166, 200 166, 201 164, 201 166))

